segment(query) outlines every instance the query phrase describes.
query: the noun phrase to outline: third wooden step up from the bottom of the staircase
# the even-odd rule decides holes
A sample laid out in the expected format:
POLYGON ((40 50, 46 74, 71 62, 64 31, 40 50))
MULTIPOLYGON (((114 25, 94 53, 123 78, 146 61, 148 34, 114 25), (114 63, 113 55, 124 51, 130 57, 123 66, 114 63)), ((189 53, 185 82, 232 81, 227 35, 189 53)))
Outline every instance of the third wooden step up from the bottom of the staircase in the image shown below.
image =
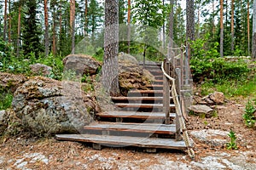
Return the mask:
MULTIPOLYGON (((140 111, 107 111, 96 113, 96 116, 106 118, 136 118, 136 119, 166 119, 166 114, 163 112, 140 112, 140 111)), ((170 113, 172 119, 176 113, 170 113)))

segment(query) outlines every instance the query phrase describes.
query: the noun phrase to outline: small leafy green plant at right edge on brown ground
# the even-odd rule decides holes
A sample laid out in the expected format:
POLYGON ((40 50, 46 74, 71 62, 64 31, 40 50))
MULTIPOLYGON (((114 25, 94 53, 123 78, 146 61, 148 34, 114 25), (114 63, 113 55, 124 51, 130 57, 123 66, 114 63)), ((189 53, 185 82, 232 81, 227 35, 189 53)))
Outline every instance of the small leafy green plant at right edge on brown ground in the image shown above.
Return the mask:
POLYGON ((256 122, 254 113, 256 112, 256 108, 253 106, 252 101, 248 100, 246 109, 244 111, 245 113, 242 115, 242 118, 244 119, 245 124, 247 127, 254 127, 254 124, 256 122))

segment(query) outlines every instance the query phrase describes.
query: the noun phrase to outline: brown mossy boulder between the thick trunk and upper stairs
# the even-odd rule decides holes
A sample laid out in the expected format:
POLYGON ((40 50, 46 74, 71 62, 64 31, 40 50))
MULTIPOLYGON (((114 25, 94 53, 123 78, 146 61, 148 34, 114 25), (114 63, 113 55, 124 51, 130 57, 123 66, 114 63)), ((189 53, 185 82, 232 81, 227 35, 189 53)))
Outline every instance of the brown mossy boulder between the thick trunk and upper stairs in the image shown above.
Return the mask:
POLYGON ((148 89, 154 76, 139 65, 137 59, 125 53, 119 54, 119 87, 121 94, 127 95, 130 89, 148 89))

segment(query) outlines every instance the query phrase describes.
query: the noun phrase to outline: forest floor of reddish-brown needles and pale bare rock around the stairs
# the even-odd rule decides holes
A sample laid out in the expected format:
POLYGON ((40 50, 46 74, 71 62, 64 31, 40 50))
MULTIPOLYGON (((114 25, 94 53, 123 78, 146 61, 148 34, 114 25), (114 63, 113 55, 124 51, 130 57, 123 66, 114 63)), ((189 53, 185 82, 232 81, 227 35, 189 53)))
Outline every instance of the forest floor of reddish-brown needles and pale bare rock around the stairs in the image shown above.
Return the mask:
MULTIPOLYGON (((189 133, 217 129, 237 136, 238 150, 194 139, 195 158, 185 151, 139 148, 103 148, 50 139, 20 136, 0 144, 0 169, 256 169, 256 130, 242 120, 244 105, 229 101, 218 108, 218 116, 189 116, 189 133), (207 122, 207 123, 206 123, 207 122)), ((218 137, 216 137, 218 139, 218 137)), ((227 137, 227 141, 230 139, 227 137)))

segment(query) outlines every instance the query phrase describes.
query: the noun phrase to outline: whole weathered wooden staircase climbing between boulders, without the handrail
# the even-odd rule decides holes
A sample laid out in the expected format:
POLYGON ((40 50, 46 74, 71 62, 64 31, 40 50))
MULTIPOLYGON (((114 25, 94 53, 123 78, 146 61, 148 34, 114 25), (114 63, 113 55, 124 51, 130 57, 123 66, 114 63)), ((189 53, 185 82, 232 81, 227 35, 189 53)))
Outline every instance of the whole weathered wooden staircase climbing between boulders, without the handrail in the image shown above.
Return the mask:
POLYGON ((116 111, 97 113, 99 122, 84 127, 83 134, 57 134, 59 140, 92 143, 93 148, 102 146, 137 146, 148 152, 156 149, 185 150, 187 146, 177 134, 176 109, 170 97, 170 117, 164 108, 163 72, 160 63, 146 63, 155 81, 148 90, 130 91, 127 97, 112 97, 116 111), (166 122, 170 118, 170 124, 166 122))

